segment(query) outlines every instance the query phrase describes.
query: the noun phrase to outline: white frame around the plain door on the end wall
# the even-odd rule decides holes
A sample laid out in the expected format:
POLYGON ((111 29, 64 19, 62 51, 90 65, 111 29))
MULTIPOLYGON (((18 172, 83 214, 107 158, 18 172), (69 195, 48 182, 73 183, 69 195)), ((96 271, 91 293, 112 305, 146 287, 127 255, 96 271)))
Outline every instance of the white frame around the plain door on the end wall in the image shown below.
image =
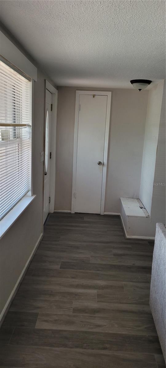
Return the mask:
POLYGON ((101 188, 101 207, 100 214, 104 215, 104 204, 106 194, 106 176, 107 176, 107 158, 108 158, 108 142, 110 130, 110 113, 111 113, 111 92, 108 91, 76 91, 76 107, 75 107, 75 134, 74 134, 74 151, 73 151, 73 182, 72 182, 72 213, 75 213, 76 202, 76 171, 77 171, 77 147, 78 147, 78 130, 79 130, 79 99, 80 95, 97 95, 107 96, 106 110, 106 130, 104 140, 104 164, 101 188))

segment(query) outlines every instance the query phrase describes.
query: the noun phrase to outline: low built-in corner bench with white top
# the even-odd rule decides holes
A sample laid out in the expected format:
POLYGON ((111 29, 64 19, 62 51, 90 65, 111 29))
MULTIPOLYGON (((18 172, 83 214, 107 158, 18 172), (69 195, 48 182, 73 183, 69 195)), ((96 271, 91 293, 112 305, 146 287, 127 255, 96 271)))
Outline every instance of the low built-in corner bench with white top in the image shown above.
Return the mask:
POLYGON ((127 238, 139 237, 139 228, 149 217, 139 198, 121 198, 121 220, 127 238))

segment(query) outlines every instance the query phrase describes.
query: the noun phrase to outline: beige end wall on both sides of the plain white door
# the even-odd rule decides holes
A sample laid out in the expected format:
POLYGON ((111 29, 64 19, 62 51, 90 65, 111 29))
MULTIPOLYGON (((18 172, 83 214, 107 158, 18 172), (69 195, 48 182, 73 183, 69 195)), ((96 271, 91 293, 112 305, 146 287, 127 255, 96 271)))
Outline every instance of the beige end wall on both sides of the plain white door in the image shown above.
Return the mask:
MULTIPOLYGON (((76 90, 59 87, 56 135, 55 209, 71 210, 76 90)), ((111 89, 105 212, 120 212, 120 197, 138 197, 148 91, 111 89)))

